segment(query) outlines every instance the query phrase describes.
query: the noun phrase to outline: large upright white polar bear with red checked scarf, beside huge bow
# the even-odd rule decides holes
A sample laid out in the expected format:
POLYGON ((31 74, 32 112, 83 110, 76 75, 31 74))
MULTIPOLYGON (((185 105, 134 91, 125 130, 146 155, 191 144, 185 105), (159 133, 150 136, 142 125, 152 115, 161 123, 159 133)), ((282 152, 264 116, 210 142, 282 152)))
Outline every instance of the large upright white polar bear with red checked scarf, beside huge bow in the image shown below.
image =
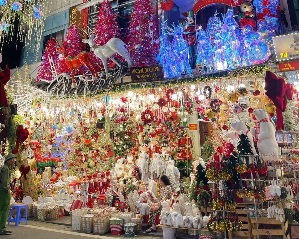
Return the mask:
POLYGON ((275 138, 275 125, 269 117, 266 109, 253 111, 254 116, 259 121, 256 128, 251 128, 251 134, 257 141, 257 148, 260 154, 278 155, 279 147, 275 138))

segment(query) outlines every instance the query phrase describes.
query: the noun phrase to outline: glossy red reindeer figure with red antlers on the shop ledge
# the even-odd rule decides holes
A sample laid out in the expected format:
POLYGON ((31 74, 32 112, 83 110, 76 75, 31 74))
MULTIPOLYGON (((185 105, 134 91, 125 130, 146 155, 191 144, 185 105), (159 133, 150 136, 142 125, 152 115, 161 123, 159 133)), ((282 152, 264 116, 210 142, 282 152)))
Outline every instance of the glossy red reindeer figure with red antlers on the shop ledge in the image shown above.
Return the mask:
POLYGON ((58 47, 57 50, 60 51, 63 54, 63 57, 65 59, 65 63, 68 66, 68 68, 70 68, 71 73, 72 73, 72 85, 71 88, 75 88, 76 87, 76 83, 75 83, 75 71, 76 69, 78 69, 83 76, 86 77, 86 74, 82 71, 81 67, 83 65, 86 66, 86 68, 91 72, 92 74, 92 79, 93 80, 97 80, 99 78, 95 65, 92 61, 91 55, 87 52, 87 51, 81 51, 77 56, 75 57, 71 57, 68 56, 68 53, 65 50, 65 46, 63 43, 63 39, 61 36, 61 43, 62 46, 60 46, 59 42, 57 41, 56 38, 54 38, 54 41, 56 42, 56 46, 58 47))

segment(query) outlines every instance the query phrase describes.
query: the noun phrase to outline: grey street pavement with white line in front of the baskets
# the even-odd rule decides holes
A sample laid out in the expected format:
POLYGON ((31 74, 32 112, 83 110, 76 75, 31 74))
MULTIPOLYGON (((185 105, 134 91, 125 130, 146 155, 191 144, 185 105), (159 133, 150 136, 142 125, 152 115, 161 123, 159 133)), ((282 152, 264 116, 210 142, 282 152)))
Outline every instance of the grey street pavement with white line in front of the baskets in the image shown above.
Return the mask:
MULTIPOLYGON (((111 238, 125 238, 124 234, 121 236, 112 236, 109 233, 105 235, 87 234, 80 231, 73 231, 70 226, 62 226, 51 223, 29 221, 28 225, 21 222, 19 226, 15 226, 14 223, 7 225, 7 230, 13 231, 8 235, 1 235, 0 239, 111 239, 111 238)), ((140 239, 158 239, 158 237, 148 237, 142 235, 135 235, 134 238, 140 239)), ((161 238, 159 238, 161 239, 161 238)))

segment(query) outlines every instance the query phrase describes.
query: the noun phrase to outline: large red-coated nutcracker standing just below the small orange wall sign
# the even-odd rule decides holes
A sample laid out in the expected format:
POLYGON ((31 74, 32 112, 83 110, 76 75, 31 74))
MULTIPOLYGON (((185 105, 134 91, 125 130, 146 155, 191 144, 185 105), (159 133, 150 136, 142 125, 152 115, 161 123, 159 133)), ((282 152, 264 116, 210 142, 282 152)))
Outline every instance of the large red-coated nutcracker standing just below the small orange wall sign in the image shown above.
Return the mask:
POLYGON ((191 172, 191 160, 193 159, 190 148, 193 148, 193 144, 187 130, 185 130, 184 137, 179 139, 178 148, 178 159, 180 161, 187 160, 187 174, 189 175, 191 172))

